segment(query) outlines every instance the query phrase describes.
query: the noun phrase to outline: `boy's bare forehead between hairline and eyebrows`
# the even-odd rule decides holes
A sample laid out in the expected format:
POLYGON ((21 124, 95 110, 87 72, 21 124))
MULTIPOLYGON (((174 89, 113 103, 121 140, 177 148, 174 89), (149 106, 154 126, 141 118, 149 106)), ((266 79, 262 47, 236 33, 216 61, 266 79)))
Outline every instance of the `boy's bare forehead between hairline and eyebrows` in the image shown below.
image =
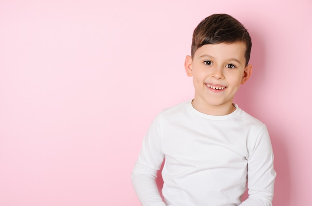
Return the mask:
POLYGON ((244 42, 205 44, 199 47, 194 54, 194 58, 210 56, 218 59, 236 58, 245 59, 246 45, 244 42))

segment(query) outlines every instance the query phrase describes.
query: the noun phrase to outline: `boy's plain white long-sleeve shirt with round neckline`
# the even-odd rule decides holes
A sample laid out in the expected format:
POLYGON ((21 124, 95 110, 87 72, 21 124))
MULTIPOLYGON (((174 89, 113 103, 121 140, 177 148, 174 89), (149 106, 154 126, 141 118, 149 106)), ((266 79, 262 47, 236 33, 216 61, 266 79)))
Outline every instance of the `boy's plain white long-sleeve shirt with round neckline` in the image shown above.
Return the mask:
POLYGON ((132 173, 143 206, 272 206, 276 173, 267 128, 235 107, 212 116, 187 101, 156 116, 132 173), (155 178, 164 158, 163 202, 155 178), (241 203, 247 178, 249 197, 241 203))

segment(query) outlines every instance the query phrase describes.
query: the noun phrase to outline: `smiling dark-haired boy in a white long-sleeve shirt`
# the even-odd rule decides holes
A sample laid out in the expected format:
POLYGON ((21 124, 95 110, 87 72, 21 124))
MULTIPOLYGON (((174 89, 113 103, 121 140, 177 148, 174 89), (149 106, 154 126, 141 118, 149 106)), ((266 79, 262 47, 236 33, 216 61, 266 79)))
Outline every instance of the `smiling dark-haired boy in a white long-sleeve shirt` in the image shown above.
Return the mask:
POLYGON ((272 206, 268 131, 232 102, 251 75, 250 51, 248 31, 230 15, 213 14, 195 28, 184 64, 194 99, 156 116, 132 173, 143 206, 272 206), (164 202, 155 182, 163 159, 164 202))

